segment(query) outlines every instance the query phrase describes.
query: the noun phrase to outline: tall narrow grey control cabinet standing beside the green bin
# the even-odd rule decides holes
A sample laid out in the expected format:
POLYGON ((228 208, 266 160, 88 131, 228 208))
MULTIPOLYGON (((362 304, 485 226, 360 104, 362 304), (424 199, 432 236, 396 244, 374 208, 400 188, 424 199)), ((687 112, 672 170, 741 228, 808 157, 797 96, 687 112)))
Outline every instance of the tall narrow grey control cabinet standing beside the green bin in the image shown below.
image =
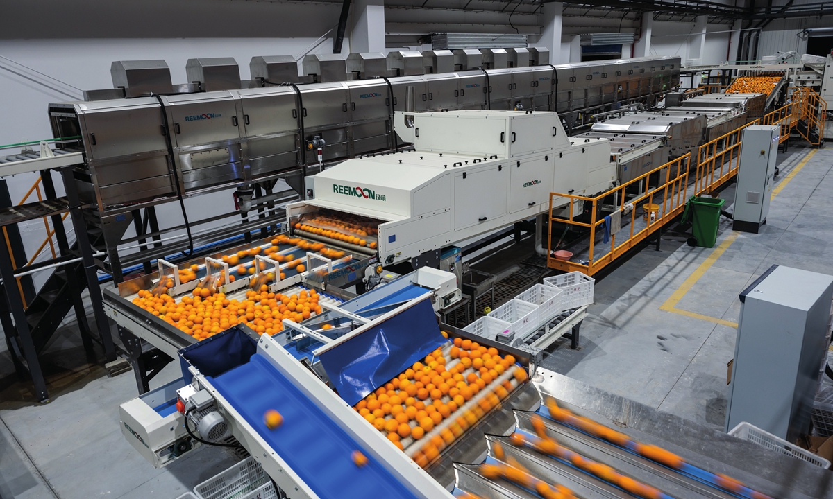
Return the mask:
POLYGON ((737 169, 733 230, 757 234, 770 211, 776 174, 779 125, 752 125, 743 131, 741 160, 737 169))

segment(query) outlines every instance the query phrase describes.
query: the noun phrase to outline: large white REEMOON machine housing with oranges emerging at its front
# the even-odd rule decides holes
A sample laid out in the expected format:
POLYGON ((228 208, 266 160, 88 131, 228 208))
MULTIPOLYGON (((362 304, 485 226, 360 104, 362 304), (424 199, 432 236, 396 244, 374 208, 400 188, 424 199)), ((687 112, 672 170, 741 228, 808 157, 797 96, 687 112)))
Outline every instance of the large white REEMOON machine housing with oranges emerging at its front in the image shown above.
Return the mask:
MULTIPOLYGON (((571 141, 555 112, 413 116, 416 151, 315 175, 316 198, 287 205, 290 226, 322 208, 381 220, 378 254, 394 264, 544 214, 551 192, 593 195, 616 180, 608 141, 571 141)), ((554 207, 568 204, 562 197, 554 207)))

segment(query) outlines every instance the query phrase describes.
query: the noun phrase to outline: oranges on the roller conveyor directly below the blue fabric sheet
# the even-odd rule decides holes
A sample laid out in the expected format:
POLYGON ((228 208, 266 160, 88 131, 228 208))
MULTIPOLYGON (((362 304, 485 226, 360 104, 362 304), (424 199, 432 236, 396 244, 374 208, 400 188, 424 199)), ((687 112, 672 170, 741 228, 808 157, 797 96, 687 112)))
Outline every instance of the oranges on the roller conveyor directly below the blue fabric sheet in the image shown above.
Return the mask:
MULTIPOLYGON (((443 336, 447 338, 447 333, 443 336)), ((515 358, 501 357, 496 348, 454 338, 447 358, 436 349, 424 362, 414 363, 353 408, 400 449, 404 450, 407 443, 409 452, 427 433, 442 427, 421 447, 415 447, 419 450, 412 455, 414 462, 426 467, 443 448, 509 396, 514 389, 511 381, 496 382, 514 363, 515 358), (475 405, 463 408, 480 392, 475 405)), ((515 368, 512 374, 519 383, 526 381, 523 368, 515 368)))

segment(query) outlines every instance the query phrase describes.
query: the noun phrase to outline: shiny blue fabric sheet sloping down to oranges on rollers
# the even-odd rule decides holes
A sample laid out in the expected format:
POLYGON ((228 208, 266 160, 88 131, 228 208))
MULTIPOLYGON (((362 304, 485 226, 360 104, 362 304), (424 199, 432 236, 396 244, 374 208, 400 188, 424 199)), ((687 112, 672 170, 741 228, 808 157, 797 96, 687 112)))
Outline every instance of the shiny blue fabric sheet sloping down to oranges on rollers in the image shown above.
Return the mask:
POLYGON ((424 299, 320 358, 338 394, 354 405, 445 342, 431 301, 424 299))

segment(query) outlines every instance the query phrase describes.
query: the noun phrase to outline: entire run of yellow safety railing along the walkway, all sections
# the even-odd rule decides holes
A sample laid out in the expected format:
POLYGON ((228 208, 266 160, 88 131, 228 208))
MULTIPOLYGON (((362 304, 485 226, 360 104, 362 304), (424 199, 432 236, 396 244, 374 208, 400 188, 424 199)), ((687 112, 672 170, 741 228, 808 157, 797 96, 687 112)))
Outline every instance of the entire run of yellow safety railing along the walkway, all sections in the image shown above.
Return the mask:
MULTIPOLYGON (((737 175, 737 169, 741 161, 741 137, 747 126, 751 125, 778 125, 781 126, 779 143, 787 141, 791 131, 796 128, 807 141, 814 146, 821 144, 824 135, 824 127, 827 113, 827 103, 821 96, 810 88, 794 89, 791 102, 781 106, 762 116, 759 120, 747 123, 734 131, 706 142, 697 149, 695 157, 696 169, 693 171, 694 181, 688 185, 689 163, 691 153, 681 156, 674 161, 666 163, 650 172, 640 175, 625 184, 614 187, 611 190, 596 196, 581 196, 570 194, 550 194, 550 228, 549 242, 547 244, 547 266, 551 269, 559 269, 565 272, 578 270, 587 275, 593 275, 610 264, 614 259, 631 250, 636 244, 645 240, 649 235, 659 230, 662 225, 680 215, 690 195, 711 195, 715 190, 732 180, 737 175), (806 131, 798 127, 799 122, 806 124, 806 131), (811 131, 817 135, 811 136, 811 131), (685 166, 683 166, 685 165, 685 166), (651 187, 651 182, 654 185, 651 187), (690 188, 693 189, 690 190, 690 188), (636 192, 635 192, 636 191, 636 192), (626 236, 622 239, 621 232, 610 235, 609 242, 604 242, 599 232, 602 230, 605 220, 601 218, 599 209, 602 200, 613 199, 614 205, 606 205, 606 210, 620 211, 626 205, 631 205, 630 224, 624 229, 626 236), (565 207, 564 200, 569 200, 565 207), (661 200, 661 204, 655 203, 661 200), (590 221, 576 220, 576 202, 590 203, 590 221), (643 217, 636 217, 636 209, 641 203, 656 205, 656 212, 646 209, 643 217), (556 208, 553 208, 556 206, 556 208), (563 213, 562 213, 563 212, 563 213), (655 213, 656 215, 652 215, 655 213), (567 214, 567 215, 565 215, 567 214), (644 220, 640 220, 644 218, 644 220), (573 262, 556 259, 552 251, 552 227, 555 223, 561 223, 589 229, 589 250, 586 255, 586 263, 573 262), (616 235, 620 239, 616 240, 616 235), (601 248, 601 250, 600 250, 601 248)), ((586 205, 582 206, 582 212, 587 212, 586 205)), ((622 225, 626 222, 626 215, 621 215, 622 225)), ((582 220, 586 220, 586 217, 582 220)))

